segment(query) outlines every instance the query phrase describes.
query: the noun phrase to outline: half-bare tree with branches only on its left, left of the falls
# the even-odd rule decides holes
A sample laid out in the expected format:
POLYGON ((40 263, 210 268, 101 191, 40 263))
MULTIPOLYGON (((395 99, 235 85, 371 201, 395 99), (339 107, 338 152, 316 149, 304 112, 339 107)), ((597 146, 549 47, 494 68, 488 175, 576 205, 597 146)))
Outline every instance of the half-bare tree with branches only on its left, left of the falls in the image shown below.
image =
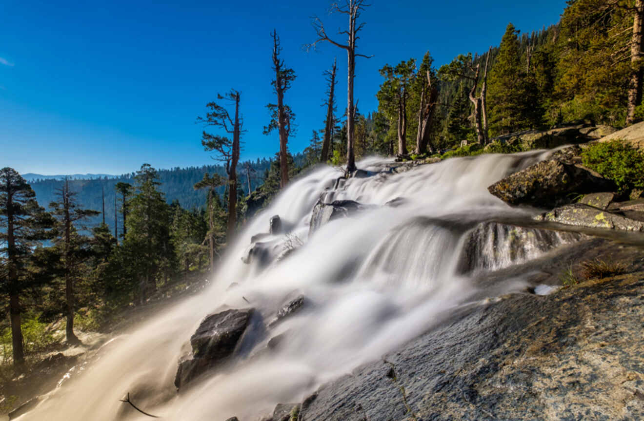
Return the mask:
MULTIPOLYGON (((237 224, 237 163, 240 159, 240 138, 242 135, 243 119, 240 118, 240 92, 235 89, 225 95, 217 94, 218 100, 226 100, 234 103, 234 114, 228 111, 226 107, 216 102, 210 102, 206 105, 210 109, 205 118, 198 117, 197 122, 204 126, 214 126, 232 134, 232 141, 216 134, 202 132, 202 145, 206 151, 215 150, 219 153, 218 161, 225 161, 226 173, 228 174, 228 226, 226 241, 229 242, 234 236, 237 224)), ((232 104, 231 104, 232 105, 232 104)))

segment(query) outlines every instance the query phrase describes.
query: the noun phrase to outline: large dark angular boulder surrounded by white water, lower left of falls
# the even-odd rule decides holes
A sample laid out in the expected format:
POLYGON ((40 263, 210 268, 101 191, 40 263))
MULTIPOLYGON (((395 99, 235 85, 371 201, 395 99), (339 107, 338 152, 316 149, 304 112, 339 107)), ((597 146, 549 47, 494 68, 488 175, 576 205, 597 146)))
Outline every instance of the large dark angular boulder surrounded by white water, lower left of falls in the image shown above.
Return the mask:
POLYGON ((191 359, 180 361, 175 386, 181 388, 230 357, 249 326, 254 309, 231 309, 210 314, 190 337, 191 359))

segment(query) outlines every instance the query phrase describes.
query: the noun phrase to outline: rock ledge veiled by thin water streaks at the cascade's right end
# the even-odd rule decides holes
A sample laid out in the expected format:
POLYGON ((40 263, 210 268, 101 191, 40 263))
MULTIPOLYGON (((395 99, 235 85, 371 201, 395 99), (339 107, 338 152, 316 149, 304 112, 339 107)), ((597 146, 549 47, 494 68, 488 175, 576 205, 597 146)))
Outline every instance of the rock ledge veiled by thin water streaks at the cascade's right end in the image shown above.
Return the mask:
POLYGON ((538 258, 556 247, 588 238, 581 233, 481 222, 469 231, 459 270, 497 270, 538 258))

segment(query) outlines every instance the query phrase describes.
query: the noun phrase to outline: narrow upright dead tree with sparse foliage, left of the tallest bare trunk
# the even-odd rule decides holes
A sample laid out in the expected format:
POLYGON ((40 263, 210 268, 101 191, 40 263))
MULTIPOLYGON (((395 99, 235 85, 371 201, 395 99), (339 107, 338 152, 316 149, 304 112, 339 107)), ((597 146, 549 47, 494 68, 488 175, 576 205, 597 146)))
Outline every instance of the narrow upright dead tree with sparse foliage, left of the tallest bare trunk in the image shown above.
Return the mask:
POLYGON ((289 90, 291 82, 296 78, 293 69, 284 65, 284 60, 279 59, 281 46, 276 30, 273 30, 270 36, 273 38, 273 70, 275 79, 271 82, 274 92, 278 96, 278 103, 269 103, 268 109, 271 111, 271 119, 268 126, 264 127, 264 134, 269 134, 272 130, 277 129, 279 132, 279 187, 284 188, 289 183, 289 161, 287 159, 287 143, 291 133, 292 120, 295 114, 288 105, 284 104, 284 93, 289 90))

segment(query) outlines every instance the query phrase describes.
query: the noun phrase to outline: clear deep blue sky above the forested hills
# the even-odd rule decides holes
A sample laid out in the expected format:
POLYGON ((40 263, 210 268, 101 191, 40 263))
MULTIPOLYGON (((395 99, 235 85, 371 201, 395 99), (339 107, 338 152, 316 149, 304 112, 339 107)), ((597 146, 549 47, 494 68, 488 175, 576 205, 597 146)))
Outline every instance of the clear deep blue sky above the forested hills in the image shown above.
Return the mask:
MULTIPOLYGON (((264 136, 274 102, 270 31, 298 78, 286 94, 297 114, 289 148, 308 145, 320 129, 322 72, 339 63, 338 111, 346 107, 346 52, 301 48, 319 15, 334 35, 344 15, 330 2, 301 0, 0 2, 0 166, 40 174, 106 173, 211 163, 196 116, 216 93, 242 92, 247 133, 242 159, 270 157, 277 134, 264 136)), ((422 58, 440 66, 459 53, 484 52, 508 22, 522 32, 558 21, 565 0, 378 1, 363 12, 355 98, 377 109, 378 69, 422 58)), ((339 41, 342 37, 335 36, 339 41)))

